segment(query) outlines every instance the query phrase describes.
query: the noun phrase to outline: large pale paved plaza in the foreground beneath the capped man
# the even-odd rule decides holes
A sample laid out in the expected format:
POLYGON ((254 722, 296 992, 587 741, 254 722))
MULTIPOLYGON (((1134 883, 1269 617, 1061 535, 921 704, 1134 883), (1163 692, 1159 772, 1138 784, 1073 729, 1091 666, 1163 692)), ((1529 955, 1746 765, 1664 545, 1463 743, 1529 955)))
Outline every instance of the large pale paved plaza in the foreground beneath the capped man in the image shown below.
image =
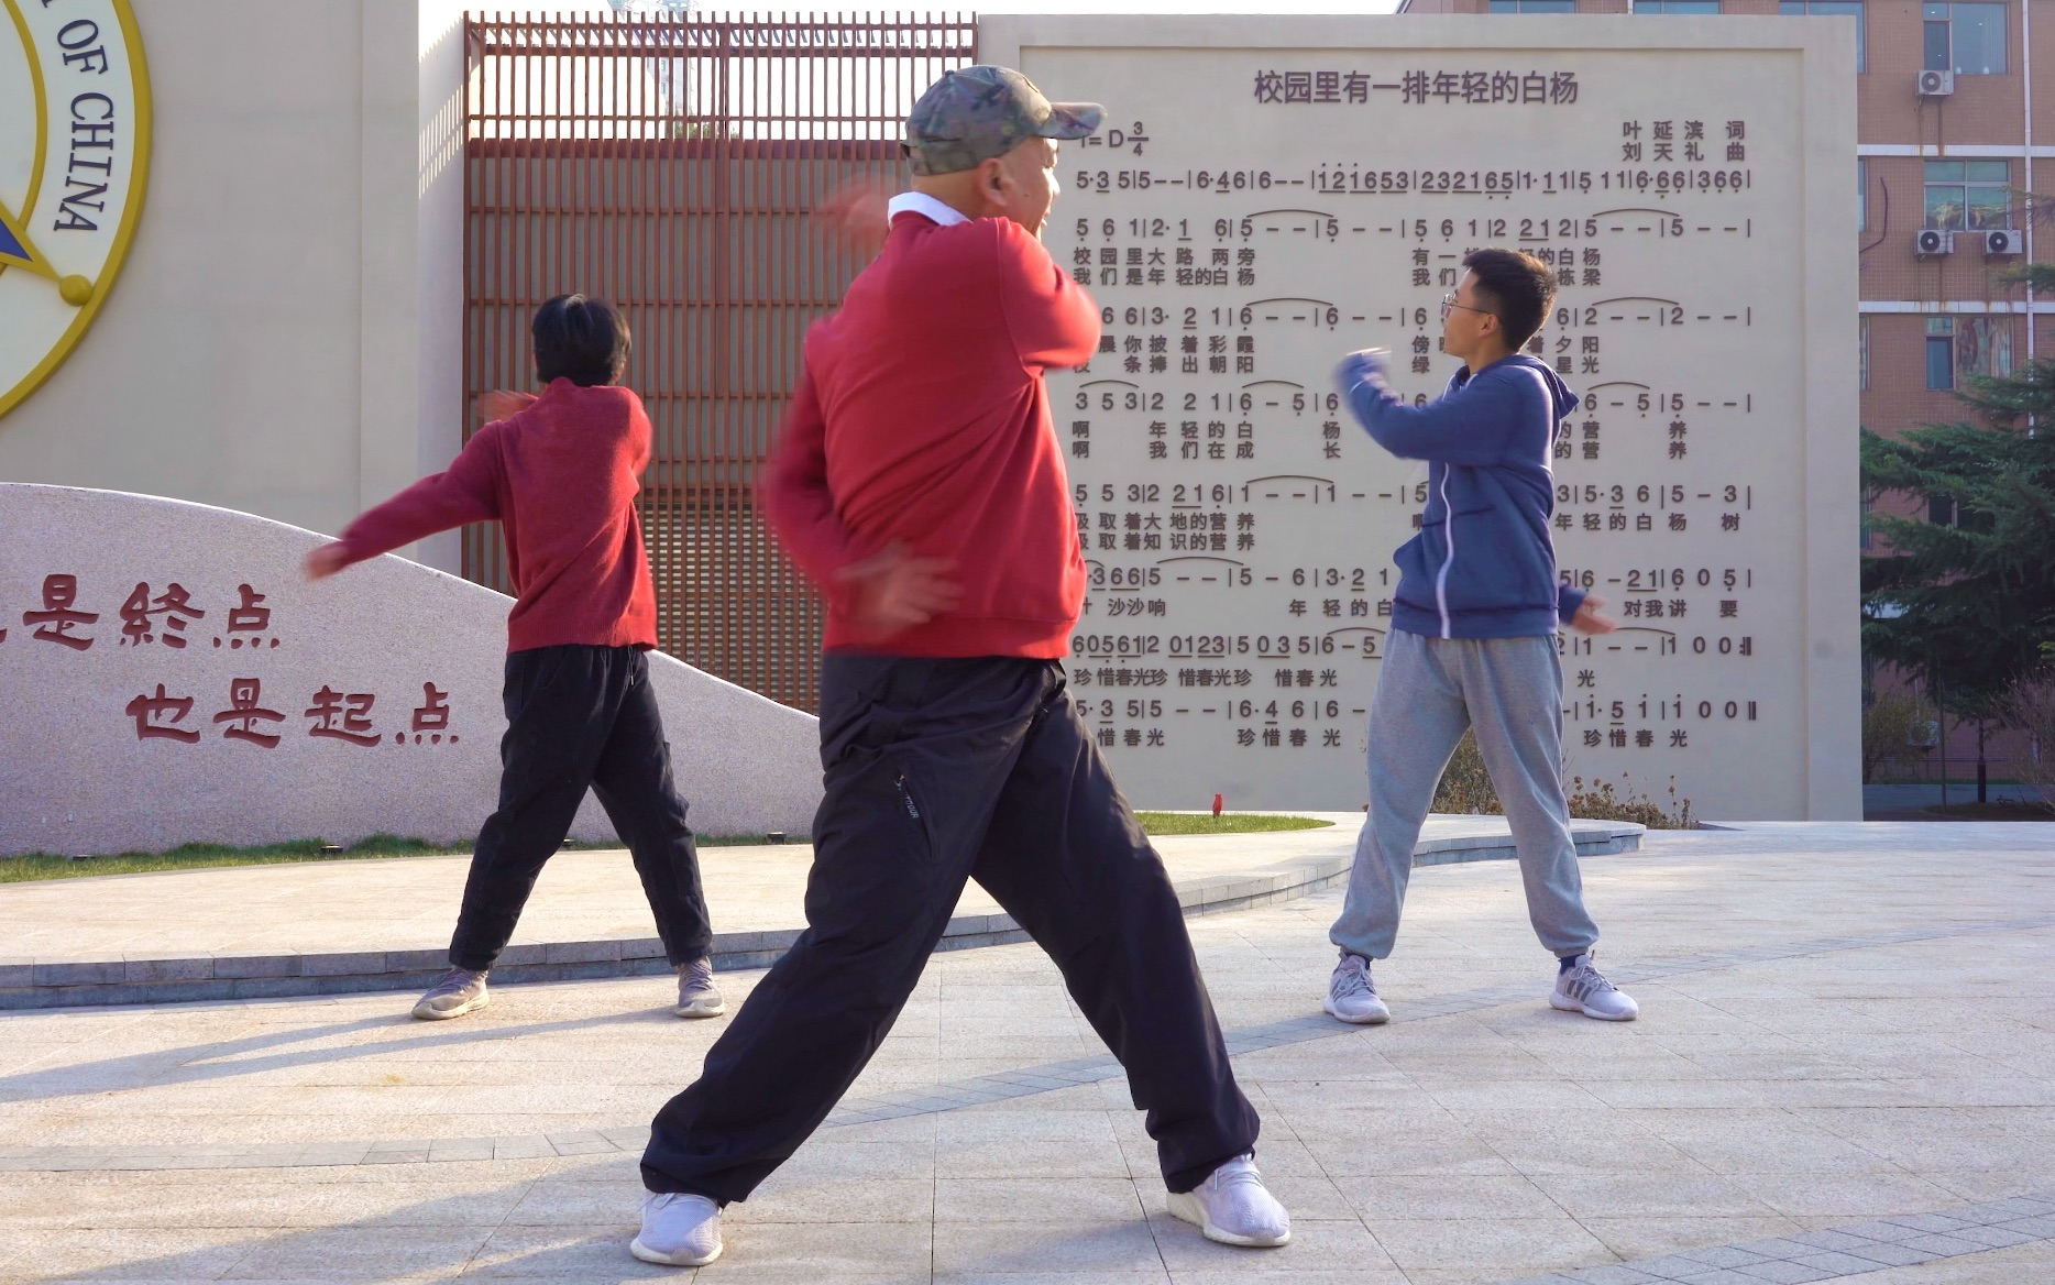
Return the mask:
MULTIPOLYGON (((2055 1281, 2045 833, 1749 824, 1589 857, 1599 962, 1642 1003, 1621 1026, 1547 1007, 1508 861, 1416 872, 1385 1028, 1319 1016, 1338 888, 1194 919, 1293 1213, 1270 1252, 1167 1219, 1034 946, 939 954, 695 1279, 2055 1281)), ((643 1125, 719 1032, 666 999, 4 1014, 0 1281, 684 1281, 625 1250, 643 1125)))

